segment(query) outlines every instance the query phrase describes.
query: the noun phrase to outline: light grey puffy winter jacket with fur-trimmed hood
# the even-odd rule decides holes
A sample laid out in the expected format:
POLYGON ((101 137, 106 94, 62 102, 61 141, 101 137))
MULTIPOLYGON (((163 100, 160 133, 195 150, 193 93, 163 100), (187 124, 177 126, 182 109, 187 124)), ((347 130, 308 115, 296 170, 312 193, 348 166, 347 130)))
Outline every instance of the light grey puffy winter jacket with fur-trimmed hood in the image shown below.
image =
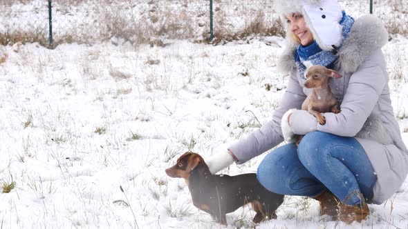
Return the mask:
MULTIPOLYGON (((355 137, 367 117, 380 114, 382 125, 387 128, 393 143, 383 145, 369 139, 356 138, 373 165, 378 180, 371 203, 380 204, 389 199, 405 181, 408 172, 408 150, 401 139, 400 128, 393 115, 389 94, 387 67, 381 47, 387 43, 388 34, 381 21, 366 15, 355 20, 349 36, 337 53, 335 70, 343 75, 331 81, 335 96, 342 102, 339 114, 325 113, 326 124, 321 126, 307 112, 302 119, 290 120, 295 134, 304 130, 319 130, 334 135, 355 137)), ((289 46, 279 59, 281 69, 290 72, 284 97, 272 115, 272 120, 259 130, 230 146, 237 163, 244 163, 277 146, 284 139, 281 133, 281 117, 291 109, 301 109, 310 89, 304 88, 304 77, 295 68, 295 46, 289 46)))

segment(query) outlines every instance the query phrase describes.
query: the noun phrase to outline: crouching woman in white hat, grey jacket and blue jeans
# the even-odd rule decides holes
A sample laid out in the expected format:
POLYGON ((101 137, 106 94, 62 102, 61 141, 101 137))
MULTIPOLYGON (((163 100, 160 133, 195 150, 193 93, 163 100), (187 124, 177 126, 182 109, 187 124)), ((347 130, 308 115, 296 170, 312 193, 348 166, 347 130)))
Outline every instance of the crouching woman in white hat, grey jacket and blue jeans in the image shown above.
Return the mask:
POLYGON ((259 165, 259 181, 272 192, 317 199, 321 215, 346 223, 362 221, 369 215, 367 203, 384 203, 408 172, 408 150, 393 116, 381 51, 387 31, 371 15, 354 20, 335 0, 279 0, 276 8, 288 41, 279 59, 281 70, 290 73, 284 97, 271 121, 207 163, 215 173, 270 150, 284 136, 305 135, 298 148, 287 143, 272 150, 259 165), (300 110, 310 92, 304 88, 304 72, 310 65, 343 75, 331 79, 341 112, 324 113, 323 126, 300 110), (391 143, 381 143, 381 135, 375 140, 355 137, 373 114, 379 116, 391 143))

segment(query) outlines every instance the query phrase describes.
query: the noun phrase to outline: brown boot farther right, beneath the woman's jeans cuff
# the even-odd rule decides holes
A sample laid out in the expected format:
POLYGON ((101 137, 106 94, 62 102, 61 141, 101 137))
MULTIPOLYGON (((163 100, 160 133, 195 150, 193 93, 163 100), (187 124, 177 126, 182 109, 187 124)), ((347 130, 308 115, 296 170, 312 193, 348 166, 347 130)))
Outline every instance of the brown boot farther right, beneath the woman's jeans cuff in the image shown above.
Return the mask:
POLYGON ((361 222, 370 215, 369 206, 365 201, 362 204, 358 205, 346 205, 340 203, 339 209, 339 219, 348 224, 353 223, 353 221, 361 222))

